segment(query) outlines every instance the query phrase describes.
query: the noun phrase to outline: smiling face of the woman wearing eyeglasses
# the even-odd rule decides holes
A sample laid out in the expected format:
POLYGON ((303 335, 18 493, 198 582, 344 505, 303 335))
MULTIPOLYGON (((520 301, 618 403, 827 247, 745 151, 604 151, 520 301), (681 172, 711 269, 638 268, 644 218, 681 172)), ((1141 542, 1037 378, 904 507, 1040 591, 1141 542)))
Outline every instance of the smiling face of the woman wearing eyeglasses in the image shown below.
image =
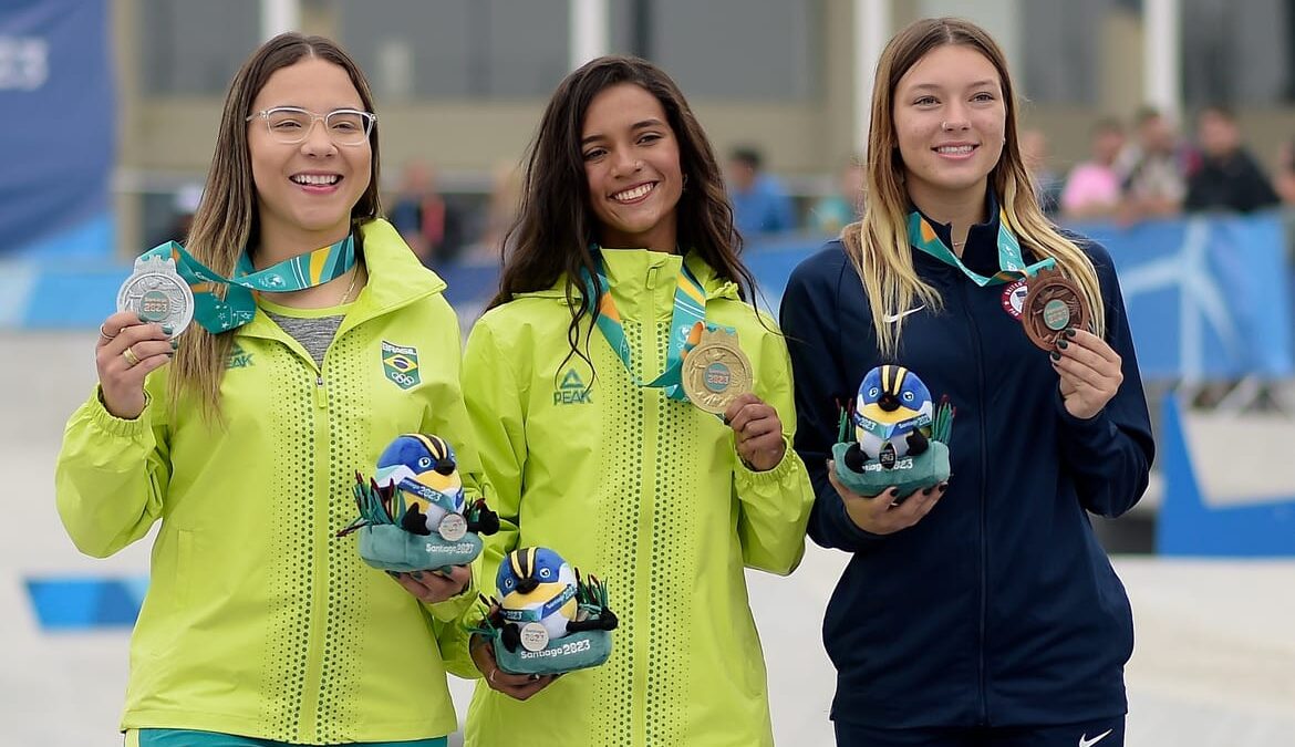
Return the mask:
MULTIPOLYGON (((319 115, 337 109, 365 110, 346 70, 315 57, 276 70, 253 101, 251 111, 276 106, 319 115)), ((369 141, 337 145, 324 123, 316 122, 304 141, 289 145, 271 136, 262 117, 253 117, 247 149, 263 246, 308 251, 347 234, 351 208, 369 186, 369 141)))

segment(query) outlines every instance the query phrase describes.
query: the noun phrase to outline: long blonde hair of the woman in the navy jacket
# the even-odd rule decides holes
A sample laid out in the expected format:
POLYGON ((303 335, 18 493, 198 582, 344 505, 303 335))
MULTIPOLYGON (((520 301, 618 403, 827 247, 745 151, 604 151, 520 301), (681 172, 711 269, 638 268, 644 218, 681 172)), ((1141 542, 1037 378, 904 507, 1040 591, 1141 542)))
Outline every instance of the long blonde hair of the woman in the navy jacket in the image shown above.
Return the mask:
POLYGON ((991 189, 1022 247, 1040 259, 1053 258, 1058 269, 1079 284, 1093 309, 1092 331, 1103 334, 1106 318, 1092 260, 1057 230, 1035 198, 1030 172, 1020 155, 1017 98, 1002 50, 974 23, 960 18, 925 18, 895 35, 877 62, 872 127, 868 132, 868 201, 862 219, 842 230, 846 254, 859 272, 869 298, 873 328, 882 353, 891 357, 899 350, 904 318, 900 316, 901 311, 912 308, 917 300, 930 308, 943 307, 939 293, 923 282, 913 268, 906 230, 909 198, 895 133, 894 100, 900 78, 929 52, 947 44, 971 47, 998 71, 1008 107, 1004 131, 1006 141, 998 163, 989 173, 991 189), (896 317, 899 321, 887 321, 896 317))

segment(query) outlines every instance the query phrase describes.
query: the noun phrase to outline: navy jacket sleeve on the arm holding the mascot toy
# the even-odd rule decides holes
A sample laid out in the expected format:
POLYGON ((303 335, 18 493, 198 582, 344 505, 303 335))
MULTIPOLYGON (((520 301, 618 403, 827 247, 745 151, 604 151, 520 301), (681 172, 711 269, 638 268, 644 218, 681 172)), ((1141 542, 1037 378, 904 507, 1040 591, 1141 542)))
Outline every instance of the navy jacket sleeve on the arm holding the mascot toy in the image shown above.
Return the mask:
MULTIPOLYGON (((846 504, 828 482, 828 460, 839 432, 840 400, 852 395, 840 360, 837 298, 840 272, 824 272, 815 259, 800 264, 782 294, 781 325, 795 375, 795 448, 813 483, 809 537, 824 548, 862 552, 882 541, 846 514, 846 504)), ((865 343, 861 343, 865 344, 865 343)), ((857 386, 857 385, 855 385, 857 386)))

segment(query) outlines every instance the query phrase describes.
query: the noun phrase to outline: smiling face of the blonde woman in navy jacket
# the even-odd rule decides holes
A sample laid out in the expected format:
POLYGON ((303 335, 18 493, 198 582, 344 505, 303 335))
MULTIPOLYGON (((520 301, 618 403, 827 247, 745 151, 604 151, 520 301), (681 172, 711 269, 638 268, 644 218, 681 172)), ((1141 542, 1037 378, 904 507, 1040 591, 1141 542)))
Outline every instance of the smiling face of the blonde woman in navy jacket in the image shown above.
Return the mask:
POLYGON ((987 57, 961 44, 931 49, 900 78, 892 115, 918 207, 984 199, 1008 118, 998 71, 987 57))

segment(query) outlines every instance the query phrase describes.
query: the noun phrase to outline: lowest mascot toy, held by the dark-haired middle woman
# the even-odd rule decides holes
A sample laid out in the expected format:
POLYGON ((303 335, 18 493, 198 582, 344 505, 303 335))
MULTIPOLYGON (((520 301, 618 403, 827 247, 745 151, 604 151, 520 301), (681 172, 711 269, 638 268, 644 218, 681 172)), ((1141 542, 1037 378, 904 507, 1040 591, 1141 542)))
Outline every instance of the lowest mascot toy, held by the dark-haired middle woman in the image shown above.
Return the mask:
POLYGON ((518 548, 495 577, 501 599, 482 597, 487 611, 471 632, 484 636, 499 668, 510 675, 557 675, 597 667, 611 655, 616 616, 607 586, 581 577, 548 548, 518 548))

